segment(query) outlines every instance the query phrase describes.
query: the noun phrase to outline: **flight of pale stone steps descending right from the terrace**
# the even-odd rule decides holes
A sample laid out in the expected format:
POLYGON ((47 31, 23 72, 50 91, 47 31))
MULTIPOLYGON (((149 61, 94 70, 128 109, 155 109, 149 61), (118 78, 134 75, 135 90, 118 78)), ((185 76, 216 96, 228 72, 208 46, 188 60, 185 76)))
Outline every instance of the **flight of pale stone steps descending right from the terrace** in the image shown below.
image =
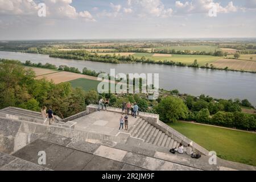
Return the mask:
POLYGON ((138 117, 137 122, 130 127, 128 133, 131 134, 131 137, 142 139, 144 142, 154 144, 155 146, 176 148, 180 144, 177 140, 171 138, 140 117, 138 117))

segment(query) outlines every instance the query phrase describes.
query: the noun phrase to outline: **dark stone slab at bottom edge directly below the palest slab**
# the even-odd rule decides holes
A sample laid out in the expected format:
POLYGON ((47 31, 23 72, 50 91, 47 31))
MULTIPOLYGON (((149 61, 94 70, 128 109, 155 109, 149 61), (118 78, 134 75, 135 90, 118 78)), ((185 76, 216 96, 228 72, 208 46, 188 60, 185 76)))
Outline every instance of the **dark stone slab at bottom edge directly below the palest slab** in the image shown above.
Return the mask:
POLYGON ((120 171, 123 163, 115 160, 94 156, 94 158, 82 169, 83 171, 120 171))

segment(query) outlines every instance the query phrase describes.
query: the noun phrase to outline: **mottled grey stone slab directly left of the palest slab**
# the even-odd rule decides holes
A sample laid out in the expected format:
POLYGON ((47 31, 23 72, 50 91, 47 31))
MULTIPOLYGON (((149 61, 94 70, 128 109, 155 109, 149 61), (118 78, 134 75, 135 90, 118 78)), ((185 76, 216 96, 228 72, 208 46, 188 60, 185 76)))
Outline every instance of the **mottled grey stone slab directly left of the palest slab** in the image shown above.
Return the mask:
POLYGON ((70 144, 68 144, 67 147, 93 154, 97 150, 97 148, 100 147, 100 144, 94 144, 94 143, 75 140, 70 144))

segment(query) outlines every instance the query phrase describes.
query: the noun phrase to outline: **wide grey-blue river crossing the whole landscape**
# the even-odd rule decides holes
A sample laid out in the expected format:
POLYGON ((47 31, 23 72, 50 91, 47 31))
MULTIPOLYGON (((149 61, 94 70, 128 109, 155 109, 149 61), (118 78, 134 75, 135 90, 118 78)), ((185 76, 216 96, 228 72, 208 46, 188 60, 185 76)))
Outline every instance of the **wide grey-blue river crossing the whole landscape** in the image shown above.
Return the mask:
POLYGON ((69 60, 34 53, 0 51, 0 58, 16 59, 22 62, 51 63, 109 73, 159 73, 159 86, 166 90, 178 89, 181 93, 199 96, 205 94, 215 98, 248 99, 256 106, 256 74, 232 71, 219 71, 203 68, 176 67, 158 64, 110 64, 83 60, 69 60))

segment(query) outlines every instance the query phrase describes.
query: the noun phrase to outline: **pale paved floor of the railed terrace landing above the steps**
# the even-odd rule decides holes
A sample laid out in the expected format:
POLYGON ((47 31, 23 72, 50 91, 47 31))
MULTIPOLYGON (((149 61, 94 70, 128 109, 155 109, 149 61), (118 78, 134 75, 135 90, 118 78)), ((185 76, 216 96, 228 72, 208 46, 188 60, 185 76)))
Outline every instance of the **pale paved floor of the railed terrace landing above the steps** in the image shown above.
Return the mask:
MULTIPOLYGON (((85 115, 84 117, 73 120, 73 122, 77 122, 75 125, 75 129, 90 131, 101 134, 108 135, 117 135, 119 133, 119 118, 121 114, 113 113, 110 111, 96 111, 89 115, 85 115)), ((125 115, 123 115, 125 117, 125 115)), ((138 117, 134 118, 131 115, 128 116, 128 127, 134 125, 135 122, 138 121, 138 117)), ((125 130, 125 126, 123 126, 123 130, 121 132, 127 133, 125 130)))

